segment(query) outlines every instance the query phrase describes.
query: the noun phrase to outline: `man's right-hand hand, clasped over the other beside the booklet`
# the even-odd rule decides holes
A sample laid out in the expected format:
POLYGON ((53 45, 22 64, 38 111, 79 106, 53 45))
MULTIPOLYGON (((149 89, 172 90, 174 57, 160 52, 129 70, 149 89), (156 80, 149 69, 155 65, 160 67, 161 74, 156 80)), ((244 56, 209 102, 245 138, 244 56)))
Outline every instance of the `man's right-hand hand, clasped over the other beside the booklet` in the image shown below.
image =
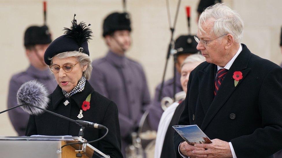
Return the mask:
POLYGON ((211 144, 195 144, 197 148, 205 148, 207 150, 193 150, 192 154, 196 157, 208 155, 208 157, 232 157, 231 149, 228 142, 219 139, 213 139, 211 144))

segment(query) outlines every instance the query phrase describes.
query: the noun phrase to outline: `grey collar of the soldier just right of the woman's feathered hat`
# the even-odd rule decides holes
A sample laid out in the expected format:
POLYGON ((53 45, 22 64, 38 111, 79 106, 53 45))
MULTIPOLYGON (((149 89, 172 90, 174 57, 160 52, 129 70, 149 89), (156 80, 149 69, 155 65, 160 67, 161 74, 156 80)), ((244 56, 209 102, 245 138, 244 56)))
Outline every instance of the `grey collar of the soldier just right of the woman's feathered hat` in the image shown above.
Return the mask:
POLYGON ((106 60, 108 60, 114 66, 122 68, 122 67, 125 66, 126 57, 124 55, 120 56, 120 55, 112 52, 111 50, 109 50, 109 52, 106 56, 106 60))

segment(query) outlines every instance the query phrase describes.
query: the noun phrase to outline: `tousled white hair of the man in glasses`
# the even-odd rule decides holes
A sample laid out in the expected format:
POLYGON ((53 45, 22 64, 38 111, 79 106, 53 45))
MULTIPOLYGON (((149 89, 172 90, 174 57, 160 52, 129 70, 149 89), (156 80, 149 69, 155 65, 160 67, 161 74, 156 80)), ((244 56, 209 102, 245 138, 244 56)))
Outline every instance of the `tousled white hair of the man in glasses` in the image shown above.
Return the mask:
POLYGON ((236 11, 225 6, 223 3, 217 3, 207 7, 200 15, 198 28, 201 35, 202 33, 206 34, 203 30, 203 25, 206 21, 214 22, 211 33, 214 33, 217 37, 230 33, 233 35, 236 43, 241 42, 244 22, 236 11))

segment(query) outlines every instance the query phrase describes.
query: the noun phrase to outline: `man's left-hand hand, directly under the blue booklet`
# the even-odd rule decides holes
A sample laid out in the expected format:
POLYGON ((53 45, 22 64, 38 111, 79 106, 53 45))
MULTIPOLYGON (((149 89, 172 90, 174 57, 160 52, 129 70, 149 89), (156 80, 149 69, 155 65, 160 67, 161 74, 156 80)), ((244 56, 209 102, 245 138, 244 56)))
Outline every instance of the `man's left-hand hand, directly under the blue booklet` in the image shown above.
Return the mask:
POLYGON ((180 143, 179 151, 181 154, 188 157, 207 157, 207 155, 196 155, 193 154, 192 151, 204 151, 205 148, 199 148, 192 145, 189 145, 187 142, 180 143))

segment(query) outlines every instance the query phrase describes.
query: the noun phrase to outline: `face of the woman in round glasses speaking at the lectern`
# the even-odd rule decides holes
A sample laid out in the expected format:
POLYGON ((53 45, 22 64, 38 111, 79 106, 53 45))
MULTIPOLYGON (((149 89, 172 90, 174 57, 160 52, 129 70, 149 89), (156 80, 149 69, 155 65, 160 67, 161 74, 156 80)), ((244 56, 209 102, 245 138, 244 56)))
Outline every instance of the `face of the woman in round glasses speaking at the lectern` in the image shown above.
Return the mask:
POLYGON ((76 57, 68 57, 68 58, 58 58, 54 57, 52 61, 52 65, 57 65, 60 68, 58 73, 53 73, 58 85, 65 90, 66 92, 70 92, 77 85, 79 79, 82 77, 82 71, 86 70, 87 65, 82 67, 78 62, 76 57), (64 65, 74 65, 70 72, 65 72, 63 70, 64 65))

